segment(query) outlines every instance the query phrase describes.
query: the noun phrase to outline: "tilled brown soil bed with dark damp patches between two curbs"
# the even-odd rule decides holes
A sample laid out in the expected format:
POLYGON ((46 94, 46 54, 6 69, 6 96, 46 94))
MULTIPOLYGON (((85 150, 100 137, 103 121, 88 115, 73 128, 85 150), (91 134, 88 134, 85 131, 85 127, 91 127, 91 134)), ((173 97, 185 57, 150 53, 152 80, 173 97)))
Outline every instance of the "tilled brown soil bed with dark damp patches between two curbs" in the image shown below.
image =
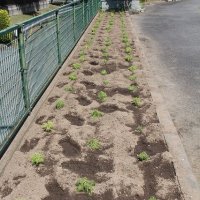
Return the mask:
POLYGON ((163 140, 128 28, 134 59, 125 61, 122 19, 129 27, 124 13, 101 13, 97 17, 97 31, 91 29, 80 45, 0 177, 2 200, 182 199, 173 158, 163 140), (108 31, 111 19, 114 24, 108 31), (107 60, 102 53, 106 38, 111 39, 107 60), (81 63, 76 81, 69 79, 73 63, 81 63), (132 65, 138 67, 134 74, 128 70, 132 65), (102 75, 102 70, 108 74, 102 75), (131 81, 132 75, 136 79, 131 81), (130 91, 130 85, 138 89, 130 91), (100 91, 108 96, 104 102, 97 98, 100 91), (142 105, 134 106, 133 97, 140 97, 142 105), (55 108, 57 99, 64 100, 64 108, 55 108), (94 109, 103 116, 93 118, 94 109), (42 129, 48 120, 55 125, 51 133, 42 129), (101 141, 102 148, 90 150, 87 141, 91 138, 101 141), (149 160, 138 160, 137 155, 143 151, 149 160), (35 152, 45 155, 38 167, 30 161, 35 152), (76 191, 75 184, 81 177, 96 182, 91 195, 76 191))

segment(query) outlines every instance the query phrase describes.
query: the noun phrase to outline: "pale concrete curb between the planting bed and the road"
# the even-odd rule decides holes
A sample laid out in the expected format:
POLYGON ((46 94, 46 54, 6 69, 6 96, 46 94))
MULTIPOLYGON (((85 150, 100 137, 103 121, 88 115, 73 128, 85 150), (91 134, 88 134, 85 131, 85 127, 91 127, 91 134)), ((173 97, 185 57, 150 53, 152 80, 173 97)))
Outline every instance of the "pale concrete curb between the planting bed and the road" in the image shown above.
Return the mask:
POLYGON ((160 89, 153 79, 153 73, 149 67, 149 63, 144 55, 144 50, 139 41, 137 34, 134 32, 135 26, 131 15, 127 13, 127 19, 131 25, 131 33, 134 39, 134 43, 137 49, 137 53, 141 59, 142 66, 145 66, 148 70, 148 74, 144 69, 147 83, 150 88, 153 102, 156 105, 156 112, 159 122, 163 131, 164 140, 168 146, 169 152, 174 159, 174 167, 176 176, 180 185, 180 189, 183 193, 183 199, 185 200, 198 200, 200 198, 200 188, 192 172, 189 160, 187 158, 185 149, 178 135, 178 132, 174 126, 171 116, 165 106, 164 99, 161 95, 160 89))

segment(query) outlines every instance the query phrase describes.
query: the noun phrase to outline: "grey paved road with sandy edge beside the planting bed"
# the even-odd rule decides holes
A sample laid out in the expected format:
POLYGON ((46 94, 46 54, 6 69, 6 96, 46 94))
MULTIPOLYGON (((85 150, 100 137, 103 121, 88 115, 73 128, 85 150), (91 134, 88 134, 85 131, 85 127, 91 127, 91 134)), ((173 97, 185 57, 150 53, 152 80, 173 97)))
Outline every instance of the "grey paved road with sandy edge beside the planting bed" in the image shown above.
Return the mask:
POLYGON ((200 183, 200 1, 147 6, 132 20, 200 183))

